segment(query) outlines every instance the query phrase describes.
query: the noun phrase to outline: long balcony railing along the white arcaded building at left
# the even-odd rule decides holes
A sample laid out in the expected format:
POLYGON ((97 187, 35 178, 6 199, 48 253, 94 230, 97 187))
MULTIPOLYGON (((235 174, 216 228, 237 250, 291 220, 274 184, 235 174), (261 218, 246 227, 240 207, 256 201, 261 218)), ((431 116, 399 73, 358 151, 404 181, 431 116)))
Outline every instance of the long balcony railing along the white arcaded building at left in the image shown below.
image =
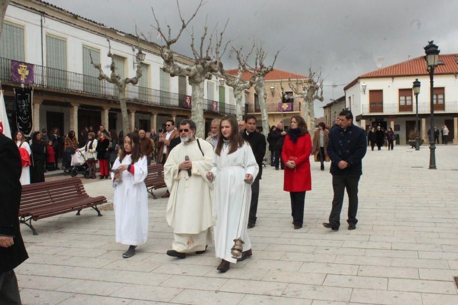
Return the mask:
MULTIPOLYGON (((106 80, 99 80, 98 77, 95 76, 48 68, 40 65, 33 66, 34 80, 33 83, 28 84, 28 86, 87 94, 108 99, 118 99, 118 88, 116 85, 106 80)), ((11 59, 0 57, 0 81, 3 83, 14 83, 11 72, 11 59)), ((184 100, 186 99, 184 95, 138 85, 128 84, 126 86, 126 97, 129 102, 148 106, 189 109, 189 107, 184 105, 184 100)), ((216 103, 218 105, 215 110, 213 108, 213 101, 204 100, 204 111, 222 115, 236 113, 236 106, 219 102, 216 103)))

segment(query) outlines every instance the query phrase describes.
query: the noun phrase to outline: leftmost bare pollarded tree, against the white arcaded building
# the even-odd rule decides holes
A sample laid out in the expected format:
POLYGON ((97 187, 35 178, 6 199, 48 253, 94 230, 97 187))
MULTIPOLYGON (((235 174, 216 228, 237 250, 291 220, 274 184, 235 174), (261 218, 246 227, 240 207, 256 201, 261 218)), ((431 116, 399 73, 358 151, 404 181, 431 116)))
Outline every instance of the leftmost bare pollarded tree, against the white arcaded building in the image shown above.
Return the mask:
MULTIPOLYGON (((127 84, 136 85, 138 83, 138 79, 141 77, 141 62, 137 63, 137 71, 135 72, 135 77, 121 79, 121 76, 119 74, 116 74, 115 72, 116 70, 115 58, 113 54, 111 53, 110 41, 108 39, 107 41, 108 41, 107 56, 111 58, 110 76, 106 75, 103 72, 101 64, 94 63, 91 52, 89 52, 89 56, 91 57, 91 64, 94 66, 94 68, 99 70, 99 80, 106 80, 107 82, 116 85, 116 87, 118 88, 118 92, 119 92, 118 99, 119 99, 119 104, 121 106, 121 115, 123 118, 123 133, 124 135, 127 135, 130 132, 130 128, 129 128, 129 116, 127 113, 126 86, 127 84)), ((140 49, 140 46, 138 46, 138 49, 140 49)))

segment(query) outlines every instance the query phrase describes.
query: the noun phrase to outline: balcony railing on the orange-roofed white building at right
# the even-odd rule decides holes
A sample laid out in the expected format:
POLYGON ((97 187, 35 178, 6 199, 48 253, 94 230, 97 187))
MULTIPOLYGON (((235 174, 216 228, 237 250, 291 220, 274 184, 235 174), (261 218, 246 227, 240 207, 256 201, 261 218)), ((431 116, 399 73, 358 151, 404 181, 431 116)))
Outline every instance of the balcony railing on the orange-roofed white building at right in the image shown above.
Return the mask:
MULTIPOLYGON (((406 114, 415 113, 415 104, 405 106, 399 104, 383 104, 381 106, 362 105, 362 114, 406 114)), ((445 102, 444 104, 435 104, 435 112, 458 112, 458 102, 445 102)), ((418 113, 430 113, 430 103, 418 103, 418 113)))

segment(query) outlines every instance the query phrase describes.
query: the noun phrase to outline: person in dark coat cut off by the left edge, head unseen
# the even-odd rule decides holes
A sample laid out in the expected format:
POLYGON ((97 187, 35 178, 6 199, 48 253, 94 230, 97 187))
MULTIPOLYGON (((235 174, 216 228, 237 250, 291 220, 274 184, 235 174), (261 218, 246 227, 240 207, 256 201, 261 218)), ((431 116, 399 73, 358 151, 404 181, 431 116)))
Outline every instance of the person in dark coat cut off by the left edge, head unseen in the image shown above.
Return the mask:
POLYGON ((19 229, 21 159, 16 144, 0 133, 0 304, 21 304, 14 268, 28 258, 19 229))

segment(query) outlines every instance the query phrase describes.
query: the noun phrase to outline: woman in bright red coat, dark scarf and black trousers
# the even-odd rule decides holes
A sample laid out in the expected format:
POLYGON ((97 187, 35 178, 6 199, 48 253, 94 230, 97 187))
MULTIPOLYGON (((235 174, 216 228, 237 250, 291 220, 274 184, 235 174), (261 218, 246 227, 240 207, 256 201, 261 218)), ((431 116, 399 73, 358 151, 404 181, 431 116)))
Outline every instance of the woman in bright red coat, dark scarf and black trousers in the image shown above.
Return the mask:
POLYGON ((285 162, 283 190, 290 192, 291 216, 295 229, 304 222, 305 192, 311 190, 311 139, 302 116, 291 118, 291 128, 284 139, 281 158, 285 162))

